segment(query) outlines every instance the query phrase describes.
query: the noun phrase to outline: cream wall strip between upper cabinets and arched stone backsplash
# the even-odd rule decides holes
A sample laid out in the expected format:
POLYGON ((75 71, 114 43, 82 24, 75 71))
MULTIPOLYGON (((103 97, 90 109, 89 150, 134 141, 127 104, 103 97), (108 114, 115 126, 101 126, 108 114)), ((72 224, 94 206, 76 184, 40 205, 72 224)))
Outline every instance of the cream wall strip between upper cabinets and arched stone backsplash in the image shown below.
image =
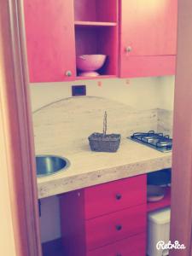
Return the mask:
POLYGON ((85 84, 88 96, 103 96, 137 109, 172 109, 174 77, 144 79, 102 79, 65 83, 31 84, 32 110, 71 96, 73 84, 85 84))

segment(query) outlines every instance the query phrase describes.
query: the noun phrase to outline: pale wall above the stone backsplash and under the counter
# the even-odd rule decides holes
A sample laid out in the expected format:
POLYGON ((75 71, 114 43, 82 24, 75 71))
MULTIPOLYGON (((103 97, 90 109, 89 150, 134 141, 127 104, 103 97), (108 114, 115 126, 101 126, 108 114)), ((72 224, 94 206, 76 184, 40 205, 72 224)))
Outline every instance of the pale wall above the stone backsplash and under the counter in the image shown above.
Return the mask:
MULTIPOLYGON (((71 85, 85 84, 88 96, 102 96, 133 108, 173 109, 174 77, 143 79, 102 79, 66 83, 31 84, 32 110, 71 96, 71 85)), ((56 196, 42 200, 42 242, 61 236, 59 201, 56 196)))

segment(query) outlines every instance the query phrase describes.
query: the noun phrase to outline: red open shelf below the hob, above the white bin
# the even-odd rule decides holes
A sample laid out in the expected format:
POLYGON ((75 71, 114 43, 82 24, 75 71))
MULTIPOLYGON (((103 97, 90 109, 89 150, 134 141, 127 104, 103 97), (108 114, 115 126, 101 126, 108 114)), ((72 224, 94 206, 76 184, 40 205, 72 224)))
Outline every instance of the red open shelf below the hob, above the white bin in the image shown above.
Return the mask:
POLYGON ((166 195, 162 200, 157 202, 148 202, 147 211, 153 212, 155 210, 165 208, 165 207, 170 207, 170 206, 171 206, 171 188, 167 187, 166 195))

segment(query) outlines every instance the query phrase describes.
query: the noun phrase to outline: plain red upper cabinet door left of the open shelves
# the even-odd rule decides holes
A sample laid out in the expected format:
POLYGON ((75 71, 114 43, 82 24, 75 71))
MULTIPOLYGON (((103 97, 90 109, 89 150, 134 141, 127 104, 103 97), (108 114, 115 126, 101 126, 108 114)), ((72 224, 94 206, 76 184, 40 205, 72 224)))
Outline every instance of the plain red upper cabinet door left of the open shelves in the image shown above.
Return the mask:
POLYGON ((75 70, 73 1, 24 0, 30 82, 72 80, 75 70))

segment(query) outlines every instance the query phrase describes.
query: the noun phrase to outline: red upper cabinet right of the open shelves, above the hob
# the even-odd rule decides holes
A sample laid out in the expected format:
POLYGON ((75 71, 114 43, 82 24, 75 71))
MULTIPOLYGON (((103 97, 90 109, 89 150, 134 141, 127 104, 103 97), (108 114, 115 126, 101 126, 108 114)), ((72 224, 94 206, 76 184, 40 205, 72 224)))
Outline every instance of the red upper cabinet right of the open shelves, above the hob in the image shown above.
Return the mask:
POLYGON ((120 5, 120 76, 173 74, 177 0, 121 0, 120 5))

